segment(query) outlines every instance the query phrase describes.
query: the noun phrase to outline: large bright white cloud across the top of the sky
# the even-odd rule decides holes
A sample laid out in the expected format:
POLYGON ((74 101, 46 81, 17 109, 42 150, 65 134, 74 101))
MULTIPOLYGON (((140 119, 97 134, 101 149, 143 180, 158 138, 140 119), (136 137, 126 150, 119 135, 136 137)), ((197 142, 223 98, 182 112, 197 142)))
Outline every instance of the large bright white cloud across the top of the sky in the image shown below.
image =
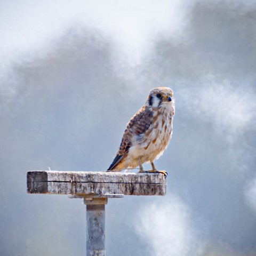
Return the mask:
MULTIPOLYGON (((190 1, 3 1, 0 4, 2 69, 17 54, 47 50, 70 26, 102 31, 118 52, 138 62, 159 31, 178 37, 190 1), (5 60, 5 63, 3 63, 5 60)), ((118 55, 118 54, 117 54, 118 55)))

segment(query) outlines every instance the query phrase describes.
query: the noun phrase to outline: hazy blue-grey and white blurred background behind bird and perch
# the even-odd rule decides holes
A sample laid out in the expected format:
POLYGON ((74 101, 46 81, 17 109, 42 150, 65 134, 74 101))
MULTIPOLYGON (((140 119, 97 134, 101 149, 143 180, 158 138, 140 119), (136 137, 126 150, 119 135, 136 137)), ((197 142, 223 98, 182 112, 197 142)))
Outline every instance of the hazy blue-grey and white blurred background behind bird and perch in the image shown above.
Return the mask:
POLYGON ((256 255, 256 1, 1 1, 0 254, 85 255, 85 206, 29 170, 106 170, 152 87, 165 197, 110 199, 108 255, 256 255))

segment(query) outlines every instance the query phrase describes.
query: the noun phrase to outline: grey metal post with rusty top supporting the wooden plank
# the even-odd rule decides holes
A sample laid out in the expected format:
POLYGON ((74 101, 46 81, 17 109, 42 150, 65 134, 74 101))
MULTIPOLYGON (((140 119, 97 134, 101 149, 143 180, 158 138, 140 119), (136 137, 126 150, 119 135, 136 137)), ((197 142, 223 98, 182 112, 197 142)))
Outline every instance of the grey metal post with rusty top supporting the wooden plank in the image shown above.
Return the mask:
POLYGON ((86 256, 105 256, 105 204, 107 198, 84 199, 86 204, 86 256), (102 200, 105 199, 105 200, 102 200))

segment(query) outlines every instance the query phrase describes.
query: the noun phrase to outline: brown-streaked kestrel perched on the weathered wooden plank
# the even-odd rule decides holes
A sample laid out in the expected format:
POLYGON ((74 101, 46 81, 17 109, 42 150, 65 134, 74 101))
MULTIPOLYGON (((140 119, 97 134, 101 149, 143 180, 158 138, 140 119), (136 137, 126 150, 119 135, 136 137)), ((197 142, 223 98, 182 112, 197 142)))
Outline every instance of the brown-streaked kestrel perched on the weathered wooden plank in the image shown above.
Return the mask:
POLYGON ((107 171, 119 172, 127 168, 140 167, 150 162, 157 171, 154 160, 164 153, 172 136, 172 122, 175 114, 173 91, 169 87, 156 87, 149 92, 145 105, 130 119, 124 131, 121 145, 113 163, 107 171))

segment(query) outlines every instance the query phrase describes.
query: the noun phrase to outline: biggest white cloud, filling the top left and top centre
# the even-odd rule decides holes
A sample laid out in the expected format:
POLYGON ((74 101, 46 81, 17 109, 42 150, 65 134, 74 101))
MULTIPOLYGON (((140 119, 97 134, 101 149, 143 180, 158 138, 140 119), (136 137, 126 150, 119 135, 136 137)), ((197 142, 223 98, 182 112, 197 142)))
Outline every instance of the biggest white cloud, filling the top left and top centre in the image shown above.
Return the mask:
POLYGON ((113 71, 127 77, 134 71, 129 70, 129 66, 138 65, 149 54, 158 33, 167 31, 173 38, 182 35, 189 3, 164 0, 161 3, 130 1, 129 4, 125 1, 108 4, 87 1, 85 4, 83 1, 57 0, 35 4, 26 0, 22 3, 15 1, 13 5, 13 1, 3 1, 0 4, 3 38, 0 42, 0 96, 10 101, 19 90, 21 82, 17 67, 37 66, 55 52, 60 39, 67 40, 67 35, 76 39, 74 34, 83 37, 84 31, 89 30, 111 41, 113 71))

